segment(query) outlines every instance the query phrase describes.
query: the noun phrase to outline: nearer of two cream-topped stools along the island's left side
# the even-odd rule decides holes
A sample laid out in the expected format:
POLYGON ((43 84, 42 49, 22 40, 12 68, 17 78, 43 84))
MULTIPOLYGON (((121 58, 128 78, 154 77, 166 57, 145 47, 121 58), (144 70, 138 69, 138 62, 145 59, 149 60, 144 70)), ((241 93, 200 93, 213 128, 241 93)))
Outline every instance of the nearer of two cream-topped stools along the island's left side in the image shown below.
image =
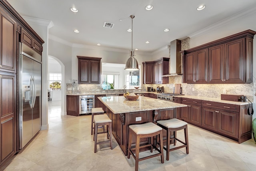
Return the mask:
POLYGON ((95 115, 94 116, 94 153, 97 151, 97 144, 108 143, 110 141, 110 148, 112 149, 112 120, 108 115, 95 115), (107 130, 98 132, 98 126, 107 125, 107 130), (107 133, 108 140, 97 142, 97 135, 100 133, 107 133))

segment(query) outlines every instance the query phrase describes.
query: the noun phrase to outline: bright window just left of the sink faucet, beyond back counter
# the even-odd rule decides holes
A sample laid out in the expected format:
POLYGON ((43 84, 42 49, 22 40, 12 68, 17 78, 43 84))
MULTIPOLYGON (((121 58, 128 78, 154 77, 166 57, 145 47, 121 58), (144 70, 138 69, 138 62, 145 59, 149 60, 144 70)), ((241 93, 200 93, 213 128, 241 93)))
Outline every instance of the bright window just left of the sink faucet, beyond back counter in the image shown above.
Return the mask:
POLYGON ((101 75, 102 89, 118 89, 119 74, 104 73, 101 75))

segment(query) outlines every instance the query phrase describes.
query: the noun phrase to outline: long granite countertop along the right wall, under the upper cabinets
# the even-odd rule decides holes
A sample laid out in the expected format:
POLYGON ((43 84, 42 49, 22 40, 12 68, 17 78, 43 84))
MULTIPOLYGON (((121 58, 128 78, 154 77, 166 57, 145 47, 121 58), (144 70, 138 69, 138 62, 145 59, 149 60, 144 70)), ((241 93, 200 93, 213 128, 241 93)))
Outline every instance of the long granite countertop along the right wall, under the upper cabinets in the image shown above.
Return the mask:
POLYGON ((232 104, 232 105, 249 104, 248 102, 229 101, 229 100, 222 100, 220 98, 202 97, 202 96, 196 96, 196 95, 175 95, 175 97, 184 97, 184 98, 188 98, 188 99, 198 99, 198 100, 205 100, 205 101, 212 101, 212 102, 219 102, 219 103, 227 103, 227 104, 232 104))

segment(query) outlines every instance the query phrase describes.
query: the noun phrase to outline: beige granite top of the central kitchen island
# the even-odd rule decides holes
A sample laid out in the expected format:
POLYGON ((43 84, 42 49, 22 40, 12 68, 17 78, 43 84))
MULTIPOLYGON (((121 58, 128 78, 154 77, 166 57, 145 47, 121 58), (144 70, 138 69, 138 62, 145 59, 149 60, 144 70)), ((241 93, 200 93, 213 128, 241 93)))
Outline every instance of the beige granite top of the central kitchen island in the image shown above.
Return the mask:
POLYGON ((140 96, 136 101, 124 99, 124 96, 98 97, 98 99, 100 99, 100 101, 102 101, 102 103, 104 103, 104 105, 106 105, 106 107, 115 114, 187 106, 184 104, 144 96, 140 96))

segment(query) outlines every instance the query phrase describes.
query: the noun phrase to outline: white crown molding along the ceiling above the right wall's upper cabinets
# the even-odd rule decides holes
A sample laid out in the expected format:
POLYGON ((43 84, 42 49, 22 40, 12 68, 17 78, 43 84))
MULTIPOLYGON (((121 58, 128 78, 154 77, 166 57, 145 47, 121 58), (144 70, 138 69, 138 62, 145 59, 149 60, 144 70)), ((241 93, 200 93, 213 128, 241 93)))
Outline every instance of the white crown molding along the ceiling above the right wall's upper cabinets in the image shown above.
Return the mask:
POLYGON ((206 28, 203 28, 202 30, 194 32, 193 34, 188 35, 188 37, 189 38, 195 38, 197 36, 200 36, 202 34, 210 32, 210 31, 212 31, 212 30, 214 30, 216 28, 224 26, 224 25, 228 24, 229 22, 232 22, 232 21, 234 21, 234 20, 236 20, 238 18, 241 18, 243 16, 247 16, 247 15, 250 15, 250 14, 254 14, 254 13, 256 13, 256 7, 243 10, 243 11, 237 13, 237 14, 234 14, 234 15, 228 17, 228 18, 225 18, 224 20, 221 20, 219 22, 216 22, 215 24, 212 24, 212 25, 210 25, 210 26, 208 26, 206 28))

